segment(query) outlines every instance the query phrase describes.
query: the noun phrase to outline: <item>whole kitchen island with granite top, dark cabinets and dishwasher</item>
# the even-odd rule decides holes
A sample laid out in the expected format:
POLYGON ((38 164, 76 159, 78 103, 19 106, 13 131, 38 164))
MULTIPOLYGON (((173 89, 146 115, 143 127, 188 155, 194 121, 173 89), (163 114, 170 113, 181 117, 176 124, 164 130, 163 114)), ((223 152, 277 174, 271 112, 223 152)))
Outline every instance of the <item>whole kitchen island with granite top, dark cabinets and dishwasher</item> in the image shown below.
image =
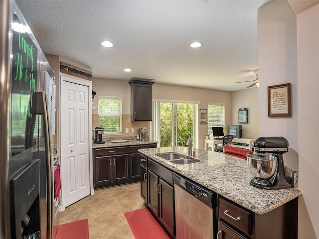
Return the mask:
POLYGON ((298 238, 301 191, 296 187, 266 190, 251 186, 252 176, 245 159, 202 149, 194 149, 189 156, 187 147, 138 151, 141 153, 141 197, 173 238, 188 238, 187 235, 199 231, 203 232, 200 238, 205 239, 298 238), (181 158, 178 159, 178 155, 181 158), (172 163, 176 160, 193 161, 172 163), (185 180, 190 180, 188 185, 193 182, 210 192, 189 187, 185 180), (187 186, 188 191, 182 193, 179 185, 187 186), (194 206, 194 200, 209 199, 210 193, 212 209, 201 206, 200 210, 199 205, 194 206), (213 220, 208 223, 206 219, 211 218, 211 210, 213 220), (199 222, 199 219, 204 220, 199 222))

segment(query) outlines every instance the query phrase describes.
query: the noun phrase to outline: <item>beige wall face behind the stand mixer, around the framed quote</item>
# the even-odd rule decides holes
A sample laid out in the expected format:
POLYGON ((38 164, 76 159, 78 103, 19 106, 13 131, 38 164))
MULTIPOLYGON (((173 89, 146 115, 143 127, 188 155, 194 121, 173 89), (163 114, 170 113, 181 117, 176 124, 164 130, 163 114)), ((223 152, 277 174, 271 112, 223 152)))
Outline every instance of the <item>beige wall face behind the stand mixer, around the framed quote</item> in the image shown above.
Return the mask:
POLYGON ((288 1, 258 9, 259 136, 284 136, 285 165, 298 170, 297 19, 288 1), (267 87, 292 84, 292 117, 268 117, 267 87))

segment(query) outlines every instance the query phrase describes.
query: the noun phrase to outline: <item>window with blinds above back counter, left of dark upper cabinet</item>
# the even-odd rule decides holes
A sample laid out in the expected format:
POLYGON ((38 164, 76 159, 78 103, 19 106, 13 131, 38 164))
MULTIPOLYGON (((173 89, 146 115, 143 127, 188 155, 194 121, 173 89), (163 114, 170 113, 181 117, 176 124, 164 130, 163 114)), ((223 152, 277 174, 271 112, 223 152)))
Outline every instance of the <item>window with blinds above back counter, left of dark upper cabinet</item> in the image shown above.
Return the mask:
POLYGON ((99 126, 104 133, 122 133, 122 99, 115 96, 98 96, 99 126))

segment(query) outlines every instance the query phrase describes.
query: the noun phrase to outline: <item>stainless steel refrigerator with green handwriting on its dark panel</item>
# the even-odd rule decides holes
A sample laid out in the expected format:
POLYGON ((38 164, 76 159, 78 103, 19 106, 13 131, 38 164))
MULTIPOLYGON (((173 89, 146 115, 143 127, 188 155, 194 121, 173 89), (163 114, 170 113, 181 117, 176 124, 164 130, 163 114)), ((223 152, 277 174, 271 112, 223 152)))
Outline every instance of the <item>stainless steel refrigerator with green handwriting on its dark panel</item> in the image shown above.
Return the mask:
POLYGON ((54 239, 54 73, 13 0, 0 0, 0 36, 0 239, 54 239))

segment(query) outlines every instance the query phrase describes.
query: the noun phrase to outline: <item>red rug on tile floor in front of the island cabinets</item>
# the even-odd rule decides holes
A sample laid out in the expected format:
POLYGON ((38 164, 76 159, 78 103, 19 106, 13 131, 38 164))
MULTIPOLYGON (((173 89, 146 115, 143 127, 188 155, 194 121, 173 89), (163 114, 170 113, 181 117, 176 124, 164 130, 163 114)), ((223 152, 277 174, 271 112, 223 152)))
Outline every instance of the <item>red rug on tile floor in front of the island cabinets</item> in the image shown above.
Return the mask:
POLYGON ((147 208, 124 214, 136 239, 171 239, 147 208))

